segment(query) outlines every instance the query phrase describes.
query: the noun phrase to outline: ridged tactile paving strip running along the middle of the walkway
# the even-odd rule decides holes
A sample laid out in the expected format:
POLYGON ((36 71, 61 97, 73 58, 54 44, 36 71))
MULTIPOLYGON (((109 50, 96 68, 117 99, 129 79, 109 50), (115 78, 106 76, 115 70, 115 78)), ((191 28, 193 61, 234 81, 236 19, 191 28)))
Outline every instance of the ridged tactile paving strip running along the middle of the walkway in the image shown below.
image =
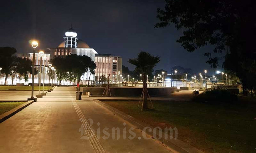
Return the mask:
POLYGON ((81 121, 81 123, 83 125, 83 128, 84 128, 87 136, 89 137, 91 146, 93 147, 94 151, 96 153, 105 153, 105 150, 101 146, 98 138, 96 137, 96 135, 93 132, 93 129, 91 129, 89 123, 87 122, 86 118, 84 117, 83 113, 81 112, 81 109, 79 108, 79 106, 77 105, 76 102, 72 101, 72 103, 73 103, 73 105, 75 107, 77 115, 80 118, 80 121, 81 121))

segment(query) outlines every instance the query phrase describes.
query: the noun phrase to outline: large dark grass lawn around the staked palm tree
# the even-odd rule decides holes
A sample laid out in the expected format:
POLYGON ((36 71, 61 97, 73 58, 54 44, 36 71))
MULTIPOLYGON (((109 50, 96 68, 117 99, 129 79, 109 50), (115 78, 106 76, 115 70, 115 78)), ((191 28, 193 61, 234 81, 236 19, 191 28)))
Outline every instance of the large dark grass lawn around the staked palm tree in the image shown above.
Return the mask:
POLYGON ((141 111, 138 101, 103 101, 153 127, 177 127, 178 139, 210 153, 256 152, 256 103, 154 102, 141 111))

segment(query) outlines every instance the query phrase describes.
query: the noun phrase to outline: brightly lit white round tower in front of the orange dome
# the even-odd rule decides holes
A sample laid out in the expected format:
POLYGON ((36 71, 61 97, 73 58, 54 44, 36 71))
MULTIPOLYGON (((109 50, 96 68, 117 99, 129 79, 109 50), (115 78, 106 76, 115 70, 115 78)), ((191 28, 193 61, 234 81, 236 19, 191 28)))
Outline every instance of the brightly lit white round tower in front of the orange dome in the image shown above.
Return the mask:
POLYGON ((66 37, 64 37, 64 47, 77 48, 77 33, 75 32, 75 29, 72 28, 72 26, 68 29, 67 32, 65 32, 65 36, 66 37))

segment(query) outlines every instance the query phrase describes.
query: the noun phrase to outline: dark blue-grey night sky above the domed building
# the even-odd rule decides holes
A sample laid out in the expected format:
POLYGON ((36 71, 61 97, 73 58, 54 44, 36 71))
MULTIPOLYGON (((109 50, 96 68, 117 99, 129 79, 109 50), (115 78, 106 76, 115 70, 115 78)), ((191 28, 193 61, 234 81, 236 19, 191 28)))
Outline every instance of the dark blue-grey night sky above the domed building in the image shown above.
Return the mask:
MULTIPOLYGON (((176 40, 182 31, 172 25, 155 29, 157 8, 164 0, 10 0, 1 3, 0 46, 12 46, 18 52, 32 50, 29 40, 37 39, 38 48, 54 48, 72 26, 77 37, 98 53, 123 58, 123 65, 140 51, 161 57, 156 69, 170 73, 173 66, 192 68, 194 73, 207 69, 207 46, 189 53, 176 40)), ((221 68, 219 68, 221 70, 221 68)))

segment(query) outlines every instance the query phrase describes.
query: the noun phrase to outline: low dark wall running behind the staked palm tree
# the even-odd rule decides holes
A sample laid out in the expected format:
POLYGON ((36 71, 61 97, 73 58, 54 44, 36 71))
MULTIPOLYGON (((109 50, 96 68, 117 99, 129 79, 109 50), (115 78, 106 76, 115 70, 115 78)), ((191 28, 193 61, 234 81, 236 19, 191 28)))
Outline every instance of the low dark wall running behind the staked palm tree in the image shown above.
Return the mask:
MULTIPOLYGON (((102 96, 105 87, 83 87, 83 95, 86 92, 91 92, 93 96, 102 96)), ((176 87, 150 87, 148 93, 150 96, 168 95, 171 92, 177 91, 176 87)), ((127 96, 127 97, 140 97, 142 87, 110 87, 111 96, 127 96)))

